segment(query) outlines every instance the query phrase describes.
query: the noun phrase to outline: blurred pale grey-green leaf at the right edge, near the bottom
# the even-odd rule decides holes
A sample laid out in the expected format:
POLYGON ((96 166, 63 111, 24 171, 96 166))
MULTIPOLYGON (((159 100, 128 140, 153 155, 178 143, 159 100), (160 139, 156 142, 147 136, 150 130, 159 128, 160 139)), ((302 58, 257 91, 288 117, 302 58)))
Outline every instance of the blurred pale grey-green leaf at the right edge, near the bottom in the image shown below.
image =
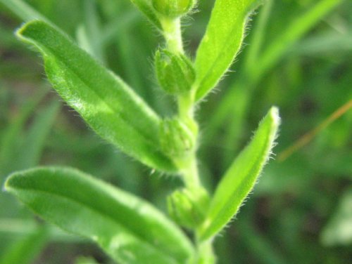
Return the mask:
POLYGON ((322 230, 320 240, 325 246, 352 243, 352 187, 341 197, 339 208, 322 230))

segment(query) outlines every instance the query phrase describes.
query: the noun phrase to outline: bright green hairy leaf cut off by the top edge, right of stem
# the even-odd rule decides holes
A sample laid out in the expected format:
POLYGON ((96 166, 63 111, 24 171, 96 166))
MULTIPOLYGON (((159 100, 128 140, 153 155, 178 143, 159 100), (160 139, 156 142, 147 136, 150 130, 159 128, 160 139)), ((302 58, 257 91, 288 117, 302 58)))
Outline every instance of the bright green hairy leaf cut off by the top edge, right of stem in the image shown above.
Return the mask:
POLYGON ((216 0, 196 53, 196 100, 203 98, 232 64, 244 38, 246 20, 258 0, 216 0))

